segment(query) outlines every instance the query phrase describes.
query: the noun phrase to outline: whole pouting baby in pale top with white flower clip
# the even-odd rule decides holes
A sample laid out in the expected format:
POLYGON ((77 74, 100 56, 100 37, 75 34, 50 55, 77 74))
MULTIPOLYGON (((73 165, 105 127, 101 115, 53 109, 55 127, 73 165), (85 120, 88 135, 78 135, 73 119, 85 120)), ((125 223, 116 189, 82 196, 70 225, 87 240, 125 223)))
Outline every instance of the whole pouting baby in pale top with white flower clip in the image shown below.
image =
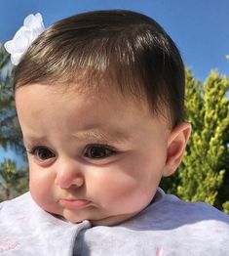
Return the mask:
MULTIPOLYGON (((24 33, 42 32, 30 19, 24 33)), ((0 204, 0 254, 229 255, 226 214, 159 188, 191 132, 165 30, 120 10, 57 21, 28 49, 21 34, 14 47, 26 51, 12 60, 29 192, 0 204)))

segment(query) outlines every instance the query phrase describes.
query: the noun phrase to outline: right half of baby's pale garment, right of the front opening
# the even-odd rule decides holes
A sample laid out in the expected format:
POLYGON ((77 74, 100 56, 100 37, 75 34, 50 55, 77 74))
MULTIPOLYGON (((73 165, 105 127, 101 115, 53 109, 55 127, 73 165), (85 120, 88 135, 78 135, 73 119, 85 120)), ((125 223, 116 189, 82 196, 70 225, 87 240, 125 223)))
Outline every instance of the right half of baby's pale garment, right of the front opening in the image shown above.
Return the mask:
POLYGON ((83 237, 92 255, 98 255, 101 241, 106 255, 227 255, 229 216, 206 203, 163 194, 129 221, 89 229, 83 237))

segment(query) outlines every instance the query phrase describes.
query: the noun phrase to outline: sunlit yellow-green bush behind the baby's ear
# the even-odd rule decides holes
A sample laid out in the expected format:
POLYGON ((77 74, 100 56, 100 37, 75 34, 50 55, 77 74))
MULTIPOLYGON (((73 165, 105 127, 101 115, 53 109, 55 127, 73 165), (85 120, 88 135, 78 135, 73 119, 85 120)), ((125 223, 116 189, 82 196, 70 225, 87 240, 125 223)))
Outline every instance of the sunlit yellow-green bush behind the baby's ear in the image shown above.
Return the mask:
POLYGON ((229 211, 229 81, 211 71, 204 86, 186 70, 185 117, 192 136, 176 174, 162 186, 188 201, 229 211), (172 186, 170 186, 172 184, 172 186))

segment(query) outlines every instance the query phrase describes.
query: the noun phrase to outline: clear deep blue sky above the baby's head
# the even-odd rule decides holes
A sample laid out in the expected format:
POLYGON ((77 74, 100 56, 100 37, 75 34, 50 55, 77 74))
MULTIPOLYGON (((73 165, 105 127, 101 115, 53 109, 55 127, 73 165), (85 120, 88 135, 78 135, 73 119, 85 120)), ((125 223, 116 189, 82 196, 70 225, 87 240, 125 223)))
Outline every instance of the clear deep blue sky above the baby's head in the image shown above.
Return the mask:
MULTIPOLYGON (((40 12, 49 26, 68 16, 99 9, 128 9, 158 21, 183 60, 204 81, 211 69, 229 76, 228 0, 1 0, 0 42, 10 40, 28 14, 40 12)), ((9 154, 9 152, 8 152, 9 154)), ((14 153, 11 153, 14 157, 14 153)), ((0 149, 0 158, 3 151, 0 149)))

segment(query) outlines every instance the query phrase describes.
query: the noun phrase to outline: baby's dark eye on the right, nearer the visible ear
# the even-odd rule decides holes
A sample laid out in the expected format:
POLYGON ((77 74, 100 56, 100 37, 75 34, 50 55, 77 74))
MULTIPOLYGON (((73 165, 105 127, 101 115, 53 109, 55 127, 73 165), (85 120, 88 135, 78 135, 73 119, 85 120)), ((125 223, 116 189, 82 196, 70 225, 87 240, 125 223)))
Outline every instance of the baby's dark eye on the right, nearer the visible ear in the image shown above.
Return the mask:
POLYGON ((95 145, 85 150, 85 156, 91 159, 101 159, 117 153, 117 150, 109 146, 95 145))

